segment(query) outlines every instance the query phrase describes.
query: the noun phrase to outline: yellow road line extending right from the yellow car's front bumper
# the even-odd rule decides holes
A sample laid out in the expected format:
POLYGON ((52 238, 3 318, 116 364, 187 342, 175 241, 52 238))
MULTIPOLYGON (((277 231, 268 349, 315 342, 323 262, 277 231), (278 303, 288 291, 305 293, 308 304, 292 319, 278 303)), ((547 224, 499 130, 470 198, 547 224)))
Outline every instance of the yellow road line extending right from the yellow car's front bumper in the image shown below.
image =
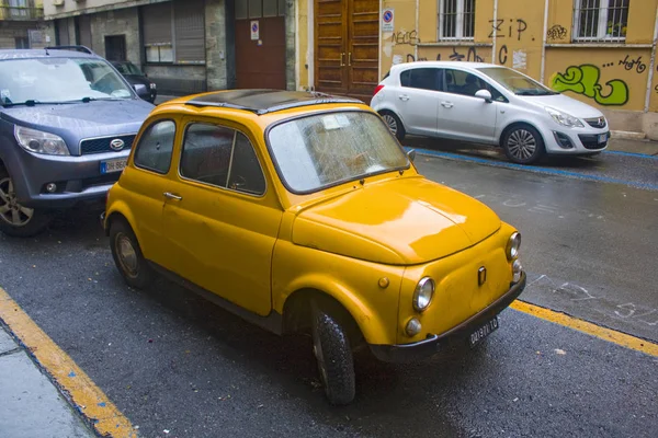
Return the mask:
POLYGON ((553 322, 555 324, 577 330, 578 332, 587 333, 588 335, 621 345, 622 347, 635 349, 649 356, 658 357, 658 344, 654 344, 639 337, 601 327, 597 324, 578 320, 565 313, 555 312, 553 310, 530 304, 524 301, 517 300, 512 302, 510 308, 536 318, 541 318, 542 320, 553 322))

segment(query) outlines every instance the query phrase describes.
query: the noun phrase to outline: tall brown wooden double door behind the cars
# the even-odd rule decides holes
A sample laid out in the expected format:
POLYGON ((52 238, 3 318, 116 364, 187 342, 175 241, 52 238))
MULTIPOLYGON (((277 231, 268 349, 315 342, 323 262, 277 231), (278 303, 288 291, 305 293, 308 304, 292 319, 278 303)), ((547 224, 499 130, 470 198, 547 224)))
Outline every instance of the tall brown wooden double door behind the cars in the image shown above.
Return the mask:
POLYGON ((316 0, 316 90, 370 103, 378 83, 379 1, 316 0))

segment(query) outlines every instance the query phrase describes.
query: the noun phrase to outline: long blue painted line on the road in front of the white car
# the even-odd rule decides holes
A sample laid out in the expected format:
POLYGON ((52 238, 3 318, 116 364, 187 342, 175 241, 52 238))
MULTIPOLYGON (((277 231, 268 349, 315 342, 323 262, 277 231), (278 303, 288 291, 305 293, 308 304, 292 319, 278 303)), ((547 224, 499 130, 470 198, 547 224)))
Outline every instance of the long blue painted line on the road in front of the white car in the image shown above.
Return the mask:
POLYGON ((423 154, 423 155, 447 158, 447 159, 457 160, 457 161, 469 161, 473 163, 486 164, 486 165, 491 165, 495 168, 515 169, 515 170, 523 170, 523 171, 534 172, 534 173, 545 173, 545 174, 549 174, 549 175, 570 176, 570 177, 576 177, 576 178, 586 180, 586 181, 597 181, 597 182, 602 182, 602 183, 622 184, 622 185, 627 185, 629 187, 635 187, 635 188, 658 191, 658 184, 638 183, 635 181, 619 180, 619 178, 613 178, 613 177, 609 177, 609 176, 587 175, 583 173, 561 171, 561 170, 551 169, 551 168, 541 168, 541 166, 535 166, 535 165, 523 165, 523 164, 517 164, 517 163, 492 161, 492 160, 487 160, 484 158, 460 155, 457 153, 451 153, 451 152, 439 152, 439 151, 433 151, 430 149, 409 148, 407 146, 405 146, 404 148, 407 151, 409 151, 411 149, 416 149, 417 153, 423 154))

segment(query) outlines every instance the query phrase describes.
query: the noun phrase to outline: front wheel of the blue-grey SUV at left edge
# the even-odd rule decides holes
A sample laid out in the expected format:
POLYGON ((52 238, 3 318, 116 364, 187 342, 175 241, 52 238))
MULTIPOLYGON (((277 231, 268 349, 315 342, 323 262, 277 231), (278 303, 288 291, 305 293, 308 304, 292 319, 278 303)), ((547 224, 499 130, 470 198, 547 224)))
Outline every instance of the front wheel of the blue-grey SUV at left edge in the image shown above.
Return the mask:
POLYGON ((31 238, 44 231, 52 220, 49 211, 19 203, 11 176, 0 166, 0 231, 14 238, 31 238))

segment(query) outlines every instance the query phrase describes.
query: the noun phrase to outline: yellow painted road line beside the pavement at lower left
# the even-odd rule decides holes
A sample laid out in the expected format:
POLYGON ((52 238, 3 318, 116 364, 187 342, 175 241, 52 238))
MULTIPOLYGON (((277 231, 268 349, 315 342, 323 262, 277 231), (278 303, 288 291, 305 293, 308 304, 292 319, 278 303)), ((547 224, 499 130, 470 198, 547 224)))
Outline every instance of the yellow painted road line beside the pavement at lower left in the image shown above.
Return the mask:
POLYGON ((131 422, 107 395, 53 342, 21 307, 0 288, 0 320, 9 326, 37 362, 68 393, 73 405, 101 436, 137 437, 131 422))

